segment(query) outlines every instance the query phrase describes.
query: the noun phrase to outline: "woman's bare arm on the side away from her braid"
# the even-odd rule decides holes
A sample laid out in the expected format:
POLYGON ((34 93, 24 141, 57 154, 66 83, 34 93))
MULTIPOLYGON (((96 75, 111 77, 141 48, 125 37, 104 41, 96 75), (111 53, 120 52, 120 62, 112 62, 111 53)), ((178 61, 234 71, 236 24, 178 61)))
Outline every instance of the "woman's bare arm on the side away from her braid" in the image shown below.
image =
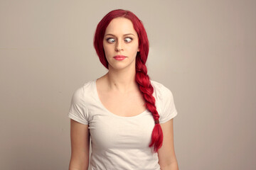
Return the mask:
POLYGON ((90 132, 88 125, 70 119, 71 169, 87 169, 89 164, 90 132))

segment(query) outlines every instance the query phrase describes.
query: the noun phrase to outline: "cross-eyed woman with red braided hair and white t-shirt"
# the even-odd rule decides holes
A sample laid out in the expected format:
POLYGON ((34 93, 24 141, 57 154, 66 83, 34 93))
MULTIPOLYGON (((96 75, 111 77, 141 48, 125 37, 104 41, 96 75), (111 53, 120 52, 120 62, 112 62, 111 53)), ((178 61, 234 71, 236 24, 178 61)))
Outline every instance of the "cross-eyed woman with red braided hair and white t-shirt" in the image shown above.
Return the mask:
POLYGON ((70 105, 70 170, 177 170, 174 98, 149 79, 149 41, 130 11, 110 11, 97 25, 94 47, 107 74, 85 83, 70 105))

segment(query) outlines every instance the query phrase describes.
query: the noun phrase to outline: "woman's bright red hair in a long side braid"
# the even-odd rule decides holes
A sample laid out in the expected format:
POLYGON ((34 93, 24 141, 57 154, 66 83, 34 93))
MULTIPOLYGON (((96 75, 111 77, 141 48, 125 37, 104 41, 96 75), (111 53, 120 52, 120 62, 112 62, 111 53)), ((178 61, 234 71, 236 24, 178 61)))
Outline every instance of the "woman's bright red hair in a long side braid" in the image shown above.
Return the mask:
POLYGON ((149 40, 146 35, 146 30, 143 26, 142 21, 139 20, 137 16, 131 11, 116 9, 107 13, 104 18, 98 23, 95 37, 94 37, 94 47, 97 52, 100 62, 108 69, 108 62, 105 57, 105 52, 103 49, 103 38, 105 35, 105 30, 112 19, 117 17, 128 18, 132 21, 134 30, 136 30, 139 38, 139 52, 136 56, 136 81, 139 85, 139 90, 146 101, 146 108, 152 113, 155 120, 154 129, 151 135, 151 143, 149 147, 154 147, 154 152, 157 152, 163 143, 163 132, 161 130, 161 125, 159 125, 159 113, 156 111, 155 98, 152 96, 154 89, 149 80, 149 75, 146 69, 146 59, 149 54, 149 40))

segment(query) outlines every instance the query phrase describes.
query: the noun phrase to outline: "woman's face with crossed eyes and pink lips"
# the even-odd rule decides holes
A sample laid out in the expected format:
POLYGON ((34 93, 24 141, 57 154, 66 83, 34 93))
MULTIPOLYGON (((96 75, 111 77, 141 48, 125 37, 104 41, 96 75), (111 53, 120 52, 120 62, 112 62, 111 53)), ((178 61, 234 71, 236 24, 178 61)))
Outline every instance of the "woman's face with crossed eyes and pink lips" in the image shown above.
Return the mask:
POLYGON ((127 67, 134 67, 135 69, 139 39, 132 21, 122 17, 112 19, 105 30, 103 47, 109 69, 127 67), (117 55, 121 55, 121 57, 117 57, 117 55))

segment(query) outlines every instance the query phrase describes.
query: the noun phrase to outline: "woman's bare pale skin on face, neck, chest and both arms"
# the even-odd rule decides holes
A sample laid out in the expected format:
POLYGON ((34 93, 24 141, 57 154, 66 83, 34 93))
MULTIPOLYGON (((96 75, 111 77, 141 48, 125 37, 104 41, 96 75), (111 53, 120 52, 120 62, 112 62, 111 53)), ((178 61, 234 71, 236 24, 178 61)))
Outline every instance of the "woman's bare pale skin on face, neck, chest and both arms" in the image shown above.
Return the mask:
MULTIPOLYGON (((139 51, 138 42, 137 33, 129 19, 114 18, 107 26, 103 47, 109 62, 109 71, 97 79, 96 85, 100 101, 105 108, 116 115, 129 117, 146 110, 144 98, 135 81, 135 58, 139 51), (127 58, 118 61, 113 58, 115 55, 124 55, 127 58)), ((163 145, 158 151, 161 170, 178 170, 174 152, 173 122, 174 120, 171 119, 160 124, 164 134, 163 145)), ((70 139, 69 169, 87 169, 90 148, 88 125, 82 125, 70 119, 70 139)))

